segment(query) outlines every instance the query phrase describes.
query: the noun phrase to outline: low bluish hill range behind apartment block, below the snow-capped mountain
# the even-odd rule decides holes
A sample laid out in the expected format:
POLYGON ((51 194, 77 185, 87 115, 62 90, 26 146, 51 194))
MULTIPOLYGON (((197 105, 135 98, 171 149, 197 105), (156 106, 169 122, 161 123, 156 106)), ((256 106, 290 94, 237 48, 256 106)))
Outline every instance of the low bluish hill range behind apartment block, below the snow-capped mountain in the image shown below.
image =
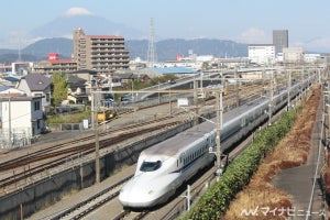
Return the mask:
MULTIPOLYGON (((130 52, 131 59, 141 57, 146 59, 148 41, 128 40, 127 50, 130 52)), ((246 57, 248 44, 235 43, 233 41, 196 38, 196 40, 164 40, 154 45, 156 59, 158 62, 173 61, 176 55, 188 56, 188 51, 193 50, 197 55, 213 55, 215 57, 246 57)), ((22 61, 44 61, 48 53, 58 53, 59 58, 70 58, 73 54, 73 41, 65 37, 54 37, 37 41, 21 51, 22 61)), ((0 64, 16 62, 19 52, 15 50, 0 50, 0 64)))

